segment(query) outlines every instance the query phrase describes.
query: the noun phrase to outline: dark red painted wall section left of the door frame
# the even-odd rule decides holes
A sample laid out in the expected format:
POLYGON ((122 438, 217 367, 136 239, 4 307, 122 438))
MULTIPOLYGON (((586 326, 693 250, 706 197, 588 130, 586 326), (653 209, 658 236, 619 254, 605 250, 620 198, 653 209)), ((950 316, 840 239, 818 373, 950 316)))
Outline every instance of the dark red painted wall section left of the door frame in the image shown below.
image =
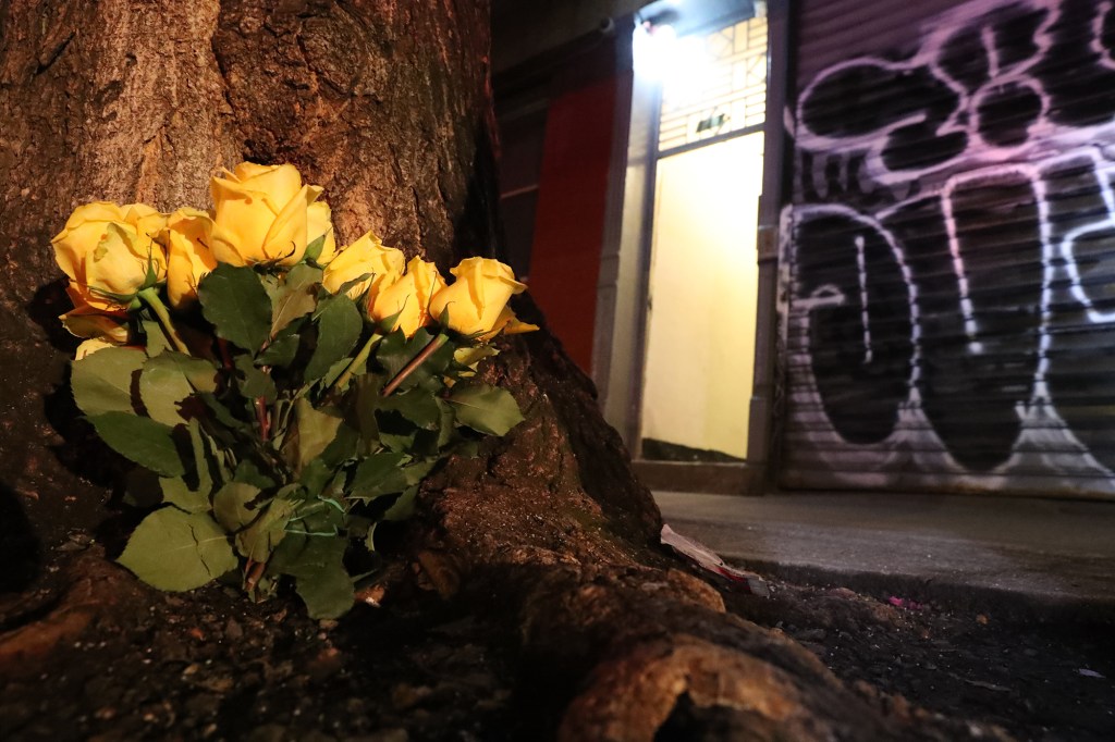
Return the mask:
POLYGON ((614 115, 614 77, 551 101, 531 248, 531 294, 585 372, 592 369, 614 115))

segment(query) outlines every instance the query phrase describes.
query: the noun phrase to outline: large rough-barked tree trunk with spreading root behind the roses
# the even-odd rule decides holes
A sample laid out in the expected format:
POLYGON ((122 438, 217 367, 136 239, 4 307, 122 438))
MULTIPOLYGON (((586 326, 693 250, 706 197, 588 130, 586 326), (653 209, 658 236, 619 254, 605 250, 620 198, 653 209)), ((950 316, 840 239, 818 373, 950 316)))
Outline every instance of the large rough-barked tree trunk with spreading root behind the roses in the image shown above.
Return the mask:
MULTIPOLYGON (((115 482, 66 389, 76 342, 56 320, 67 304, 50 237, 95 199, 207 206, 207 176, 250 159, 293 163, 324 186, 339 244, 371 228, 442 269, 491 255, 487 35, 483 1, 0 3, 0 557, 12 565, 6 590, 22 590, 0 616, 9 680, 51 666, 89 632, 156 631, 136 616, 163 599, 95 550, 59 556, 75 529, 106 519, 115 482), (45 566, 56 562, 68 582, 51 583, 45 566), (28 597, 43 585, 49 598, 28 597)), ((717 590, 658 546, 658 510, 591 382, 545 332, 503 350, 489 374, 527 421, 426 482, 400 547, 407 578, 388 586, 397 597, 384 611, 426 605, 407 586, 417 580, 455 615, 495 626, 487 646, 514 681, 505 730, 564 740, 969 733, 853 693, 795 643, 725 613, 717 590)), ((201 616, 222 595, 202 590, 186 608, 201 616)), ((368 616, 353 612, 342 628, 368 616)), ((285 622, 256 631, 306 628, 285 622)), ((359 644, 340 660, 369 661, 359 644)), ((180 714, 202 697, 186 685, 172 695, 180 714)), ((84 729, 113 729, 112 719, 84 729)))

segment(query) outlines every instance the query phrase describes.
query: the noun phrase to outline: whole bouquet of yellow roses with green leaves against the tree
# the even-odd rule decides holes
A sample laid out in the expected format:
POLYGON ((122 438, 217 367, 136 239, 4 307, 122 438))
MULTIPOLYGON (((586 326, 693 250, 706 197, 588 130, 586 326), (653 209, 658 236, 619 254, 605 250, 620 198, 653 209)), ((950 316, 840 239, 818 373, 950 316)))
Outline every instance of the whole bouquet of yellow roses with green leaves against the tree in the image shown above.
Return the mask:
POLYGON ((87 339, 74 398, 155 507, 119 562, 168 590, 221 578, 261 598, 289 580, 337 616, 427 473, 522 420, 475 369, 497 333, 536 328, 496 261, 447 283, 371 233, 338 250, 291 165, 243 163, 211 189, 207 213, 80 206, 52 240, 61 321, 87 339))

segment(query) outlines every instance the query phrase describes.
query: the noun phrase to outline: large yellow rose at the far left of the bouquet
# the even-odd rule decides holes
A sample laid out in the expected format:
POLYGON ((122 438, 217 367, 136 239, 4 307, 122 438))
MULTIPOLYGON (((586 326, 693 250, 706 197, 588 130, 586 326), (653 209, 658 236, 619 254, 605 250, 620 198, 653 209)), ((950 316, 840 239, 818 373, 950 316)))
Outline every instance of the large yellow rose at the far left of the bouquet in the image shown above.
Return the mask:
POLYGON ((144 204, 95 202, 74 209, 50 242, 75 303, 126 310, 137 292, 165 281, 166 256, 155 242, 165 224, 164 214, 144 204))

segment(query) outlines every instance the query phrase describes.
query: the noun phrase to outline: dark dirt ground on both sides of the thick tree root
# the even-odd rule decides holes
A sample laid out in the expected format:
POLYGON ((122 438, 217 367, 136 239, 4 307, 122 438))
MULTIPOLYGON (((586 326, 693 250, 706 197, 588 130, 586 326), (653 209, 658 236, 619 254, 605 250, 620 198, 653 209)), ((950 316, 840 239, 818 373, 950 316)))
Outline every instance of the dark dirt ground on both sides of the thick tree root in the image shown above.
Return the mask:
MULTIPOLYGON (((152 590, 81 534, 47 564, 36 589, 0 596, 3 740, 498 741, 552 730, 516 695, 506 626, 433 592, 313 622, 293 599, 152 590)), ((766 598, 725 593, 729 609, 793 636, 860 693, 1018 740, 1115 739, 1109 625, 769 585, 766 598)))

